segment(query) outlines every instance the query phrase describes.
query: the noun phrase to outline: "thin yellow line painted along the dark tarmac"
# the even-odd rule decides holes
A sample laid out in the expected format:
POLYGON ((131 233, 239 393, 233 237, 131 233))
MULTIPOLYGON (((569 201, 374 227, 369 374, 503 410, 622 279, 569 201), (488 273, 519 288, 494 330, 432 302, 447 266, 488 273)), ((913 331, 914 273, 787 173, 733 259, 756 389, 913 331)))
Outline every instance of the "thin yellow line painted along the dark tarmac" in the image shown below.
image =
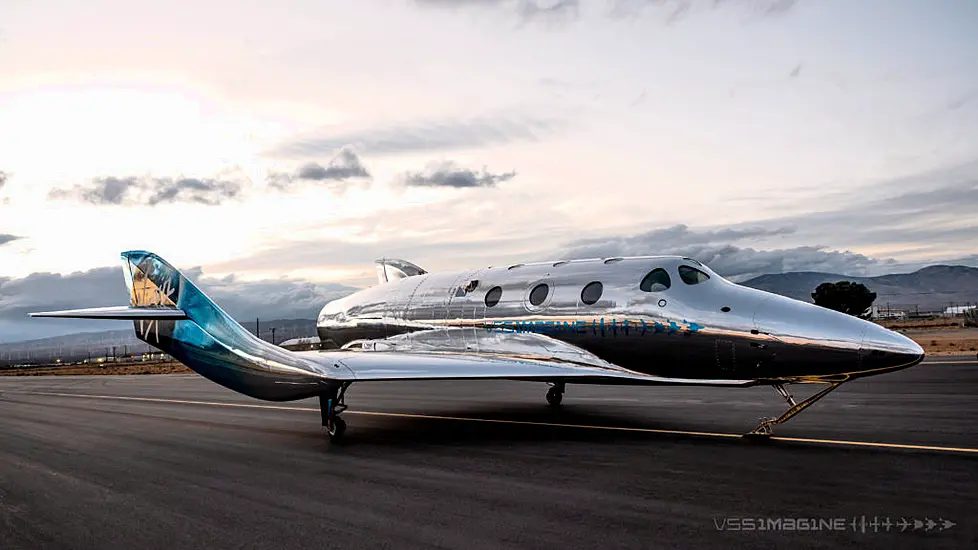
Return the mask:
MULTIPOLYGON (((319 412, 318 408, 286 407, 283 405, 222 403, 219 401, 191 401, 188 399, 162 399, 158 397, 125 397, 121 395, 91 395, 91 394, 81 394, 81 393, 55 393, 55 392, 26 392, 26 393, 30 393, 32 395, 50 395, 54 397, 82 397, 88 399, 111 399, 117 401, 143 401, 149 403, 177 403, 183 405, 207 405, 212 407, 238 407, 238 408, 246 408, 246 409, 273 409, 273 410, 283 410, 283 411, 319 412)), ((392 412, 379 412, 379 411, 346 411, 343 414, 359 414, 364 416, 387 416, 393 418, 422 418, 422 419, 429 419, 429 420, 455 420, 455 421, 464 421, 464 422, 487 422, 487 423, 495 423, 495 424, 516 424, 516 425, 524 425, 524 426, 546 426, 546 427, 553 427, 553 428, 575 428, 575 429, 605 430, 605 431, 619 431, 619 432, 692 435, 692 436, 700 436, 700 437, 722 437, 722 438, 735 438, 735 439, 739 439, 743 437, 743 434, 731 434, 731 433, 720 433, 720 432, 660 430, 655 428, 629 428, 624 426, 594 426, 590 424, 561 424, 557 422, 531 422, 527 420, 501 420, 501 419, 494 419, 494 418, 470 418, 464 416, 441 416, 441 415, 433 415, 433 414, 392 413, 392 412)), ((906 450, 916 450, 916 451, 938 451, 938 452, 978 454, 978 449, 973 449, 969 447, 912 445, 908 443, 881 443, 876 441, 850 441, 850 440, 843 440, 843 439, 814 439, 814 438, 807 438, 807 437, 772 436, 769 439, 774 441, 788 441, 793 443, 819 443, 823 445, 845 445, 845 446, 854 446, 854 447, 875 447, 875 448, 883 448, 883 449, 906 449, 906 450)))

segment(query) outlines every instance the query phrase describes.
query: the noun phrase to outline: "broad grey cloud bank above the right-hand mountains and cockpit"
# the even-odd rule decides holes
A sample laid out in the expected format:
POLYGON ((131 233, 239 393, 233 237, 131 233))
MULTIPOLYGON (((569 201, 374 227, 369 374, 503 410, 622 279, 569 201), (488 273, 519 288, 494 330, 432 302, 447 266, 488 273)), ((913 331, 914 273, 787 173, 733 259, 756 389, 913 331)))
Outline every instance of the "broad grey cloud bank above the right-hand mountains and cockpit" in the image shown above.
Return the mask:
MULTIPOLYGON (((805 207, 810 200, 792 199, 797 207, 805 207)), ((677 254, 694 257, 734 279, 785 271, 872 276, 912 271, 935 262, 974 265, 978 262, 969 251, 978 248, 976 204, 978 161, 886 180, 858 191, 820 192, 815 212, 749 226, 692 230, 677 225, 622 237, 585 239, 567 245, 563 254, 572 258, 677 254), (761 243, 774 240, 781 242, 760 249, 761 243), (786 247, 786 240, 799 246, 786 247), (750 246, 741 245, 743 242, 750 246), (891 257, 850 251, 863 247, 887 250, 891 257), (900 261, 892 256, 914 259, 900 261)))

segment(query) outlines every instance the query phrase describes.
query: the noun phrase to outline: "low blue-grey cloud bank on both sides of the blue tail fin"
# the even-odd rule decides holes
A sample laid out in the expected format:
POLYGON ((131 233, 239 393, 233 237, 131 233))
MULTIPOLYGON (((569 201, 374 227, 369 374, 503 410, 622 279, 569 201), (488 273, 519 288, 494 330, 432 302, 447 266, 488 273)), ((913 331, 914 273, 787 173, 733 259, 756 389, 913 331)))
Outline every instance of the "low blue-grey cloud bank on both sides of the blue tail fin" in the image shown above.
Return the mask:
MULTIPOLYGON (((326 302, 356 290, 295 279, 219 279, 207 277, 199 267, 181 271, 229 315, 242 320, 315 319, 326 302)), ((120 268, 102 267, 68 275, 33 273, 19 279, 0 277, 0 342, 131 327, 128 322, 26 317, 31 311, 112 306, 127 300, 120 268)))

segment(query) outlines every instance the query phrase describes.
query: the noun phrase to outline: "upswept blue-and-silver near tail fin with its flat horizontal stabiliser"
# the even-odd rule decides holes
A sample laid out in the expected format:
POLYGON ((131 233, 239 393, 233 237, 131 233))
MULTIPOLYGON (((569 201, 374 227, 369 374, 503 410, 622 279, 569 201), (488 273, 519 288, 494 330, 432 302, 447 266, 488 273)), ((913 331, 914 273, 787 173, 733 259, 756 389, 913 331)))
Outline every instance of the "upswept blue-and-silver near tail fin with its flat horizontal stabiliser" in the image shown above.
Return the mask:
POLYGON ((202 376, 268 400, 310 397, 327 384, 317 363, 265 342, 152 252, 122 253, 129 307, 31 314, 34 317, 132 319, 136 336, 202 376))

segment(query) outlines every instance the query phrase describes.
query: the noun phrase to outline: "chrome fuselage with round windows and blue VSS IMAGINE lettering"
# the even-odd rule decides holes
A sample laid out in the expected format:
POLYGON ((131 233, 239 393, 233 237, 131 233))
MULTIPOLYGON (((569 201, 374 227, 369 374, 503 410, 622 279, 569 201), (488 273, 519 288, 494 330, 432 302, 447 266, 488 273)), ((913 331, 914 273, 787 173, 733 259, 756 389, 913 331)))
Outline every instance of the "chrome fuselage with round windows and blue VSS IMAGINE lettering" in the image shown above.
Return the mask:
POLYGON ((923 358, 920 346, 901 334, 732 283, 676 256, 408 276, 330 302, 317 326, 326 347, 391 337, 428 339, 430 345, 434 337, 439 350, 479 354, 511 353, 496 344, 540 334, 547 338, 531 339, 527 355, 575 360, 573 350, 579 349, 636 372, 689 380, 826 382, 905 368, 923 358), (657 269, 665 270, 668 284, 660 273, 659 284, 643 285, 657 269), (601 283, 597 301, 594 286, 584 295, 595 282, 601 283), (531 296, 539 285, 547 285, 546 293, 538 289, 531 296), (433 330, 438 328, 451 330, 433 330))

